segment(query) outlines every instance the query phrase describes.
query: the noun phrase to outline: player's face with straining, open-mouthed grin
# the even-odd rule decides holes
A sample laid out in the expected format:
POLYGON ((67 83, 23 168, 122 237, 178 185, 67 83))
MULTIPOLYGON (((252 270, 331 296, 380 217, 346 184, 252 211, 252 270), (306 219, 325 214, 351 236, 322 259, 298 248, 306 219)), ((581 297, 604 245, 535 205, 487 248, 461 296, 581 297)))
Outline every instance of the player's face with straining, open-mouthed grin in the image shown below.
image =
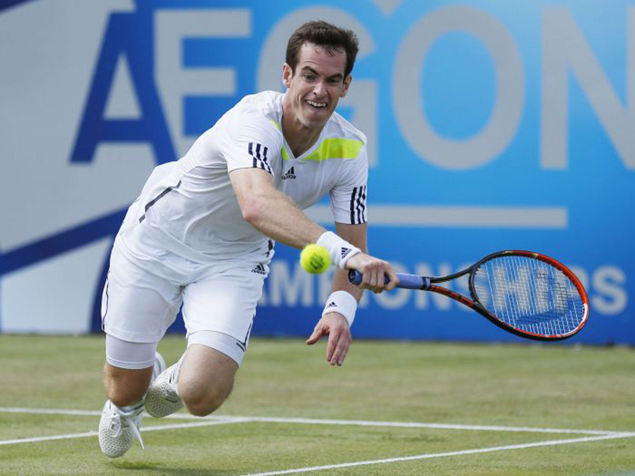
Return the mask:
POLYGON ((283 66, 291 119, 306 128, 322 128, 351 84, 351 76, 344 77, 346 53, 312 43, 302 45, 298 53, 295 73, 288 64, 283 66))

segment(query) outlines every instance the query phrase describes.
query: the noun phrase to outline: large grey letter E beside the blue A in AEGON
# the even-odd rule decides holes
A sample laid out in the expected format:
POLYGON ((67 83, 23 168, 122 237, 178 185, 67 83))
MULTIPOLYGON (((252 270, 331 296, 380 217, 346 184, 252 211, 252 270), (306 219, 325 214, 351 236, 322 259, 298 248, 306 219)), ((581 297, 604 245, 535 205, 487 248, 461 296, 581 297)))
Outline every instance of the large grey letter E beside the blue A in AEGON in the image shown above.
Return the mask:
POLYGON ((236 70, 232 67, 185 69, 183 39, 249 36, 250 10, 157 11, 154 17, 154 74, 177 157, 185 154, 194 142, 194 137, 185 135, 184 96, 231 96, 236 93, 236 70))

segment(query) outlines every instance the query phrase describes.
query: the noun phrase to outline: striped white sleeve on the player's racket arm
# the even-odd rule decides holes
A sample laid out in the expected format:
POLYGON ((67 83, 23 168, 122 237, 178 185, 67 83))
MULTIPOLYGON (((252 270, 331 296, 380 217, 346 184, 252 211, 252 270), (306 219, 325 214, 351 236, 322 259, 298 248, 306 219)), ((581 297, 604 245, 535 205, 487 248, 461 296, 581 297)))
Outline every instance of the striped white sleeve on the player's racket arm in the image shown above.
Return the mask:
POLYGON ((227 128, 223 151, 227 171, 258 168, 273 173, 282 143, 281 134, 264 115, 240 114, 227 128))

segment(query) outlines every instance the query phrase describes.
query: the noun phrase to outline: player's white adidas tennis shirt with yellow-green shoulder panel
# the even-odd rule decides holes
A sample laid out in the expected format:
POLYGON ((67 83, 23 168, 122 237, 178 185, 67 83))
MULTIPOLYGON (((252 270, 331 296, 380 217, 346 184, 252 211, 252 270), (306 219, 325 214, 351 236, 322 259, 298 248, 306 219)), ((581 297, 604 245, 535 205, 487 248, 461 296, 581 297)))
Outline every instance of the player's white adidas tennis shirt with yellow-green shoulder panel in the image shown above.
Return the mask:
MULTIPOLYGON (((158 166, 130 207, 119 235, 149 235, 195 261, 239 260, 269 251, 269 238, 244 220, 229 172, 260 168, 302 209, 330 194, 333 218, 366 222, 366 136, 334 112, 319 139, 294 157, 281 131, 283 93, 245 96, 181 159, 158 166)), ((140 251, 140 250, 137 250, 140 251)))

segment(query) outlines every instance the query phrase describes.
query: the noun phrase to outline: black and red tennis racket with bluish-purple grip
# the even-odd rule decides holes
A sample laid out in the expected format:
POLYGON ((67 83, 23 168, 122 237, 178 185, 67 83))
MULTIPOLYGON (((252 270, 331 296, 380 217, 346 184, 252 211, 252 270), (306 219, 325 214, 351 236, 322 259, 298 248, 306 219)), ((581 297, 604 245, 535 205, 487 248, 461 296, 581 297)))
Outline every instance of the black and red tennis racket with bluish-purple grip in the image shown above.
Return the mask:
MULTIPOLYGON (((578 333, 589 318, 589 299, 575 274, 553 258, 531 251, 498 251, 447 276, 397 273, 397 277, 398 288, 443 294, 505 331, 528 339, 566 339, 578 333), (436 286, 464 275, 468 275, 471 299, 436 286)), ((359 284, 362 275, 350 270, 349 281, 359 284)))

